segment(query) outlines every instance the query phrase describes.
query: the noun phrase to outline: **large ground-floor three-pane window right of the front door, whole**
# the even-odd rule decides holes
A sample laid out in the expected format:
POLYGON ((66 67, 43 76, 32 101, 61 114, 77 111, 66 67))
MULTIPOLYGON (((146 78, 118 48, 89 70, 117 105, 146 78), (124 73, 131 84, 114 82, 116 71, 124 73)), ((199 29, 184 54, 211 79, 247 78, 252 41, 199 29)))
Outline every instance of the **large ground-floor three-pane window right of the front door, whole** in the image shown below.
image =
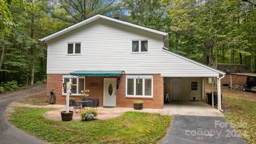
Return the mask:
POLYGON ((126 97, 153 97, 153 76, 126 75, 126 97))

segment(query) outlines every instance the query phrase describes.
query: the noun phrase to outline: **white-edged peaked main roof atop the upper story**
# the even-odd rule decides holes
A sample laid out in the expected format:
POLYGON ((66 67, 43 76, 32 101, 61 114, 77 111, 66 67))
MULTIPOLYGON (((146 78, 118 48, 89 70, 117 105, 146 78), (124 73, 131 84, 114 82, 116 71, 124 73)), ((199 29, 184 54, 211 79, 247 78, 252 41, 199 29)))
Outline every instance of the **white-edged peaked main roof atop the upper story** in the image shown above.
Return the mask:
POLYGON ((159 35, 163 35, 163 36, 168 36, 168 33, 165 33, 163 31, 159 31, 159 30, 155 30, 155 29, 151 29, 151 28, 135 25, 135 24, 133 24, 131 22, 122 21, 122 20, 118 20, 118 19, 115 19, 115 18, 110 18, 110 17, 107 17, 105 15, 96 14, 96 15, 88 18, 88 19, 85 19, 85 20, 83 20, 81 22, 75 23, 74 25, 71 25, 71 26, 69 26, 67 28, 64 28, 64 29, 60 30, 60 31, 57 31, 56 33, 53 33, 53 34, 51 34, 49 36, 46 36, 46 37, 43 37, 43 38, 39 39, 39 41, 49 41, 52 38, 55 38, 55 37, 58 37, 58 36, 60 36, 62 34, 68 33, 71 30, 74 30, 76 28, 79 28, 79 27, 82 27, 84 25, 87 25, 88 23, 91 23, 91 22, 93 22, 95 20, 98 20, 98 19, 105 19, 105 20, 121 23, 121 24, 126 25, 126 26, 130 26, 130 27, 146 30, 146 31, 149 31, 151 33, 155 33, 155 34, 159 34, 159 35))

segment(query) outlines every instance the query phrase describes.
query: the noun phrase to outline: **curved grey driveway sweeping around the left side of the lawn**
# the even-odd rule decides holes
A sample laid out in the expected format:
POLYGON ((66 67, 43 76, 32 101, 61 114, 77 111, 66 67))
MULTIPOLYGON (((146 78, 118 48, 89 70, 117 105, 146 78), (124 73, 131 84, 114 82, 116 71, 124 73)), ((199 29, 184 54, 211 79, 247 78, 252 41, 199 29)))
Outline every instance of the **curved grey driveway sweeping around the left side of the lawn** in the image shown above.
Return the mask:
POLYGON ((25 95, 46 90, 46 85, 34 86, 31 89, 19 90, 8 94, 0 94, 0 143, 45 143, 38 140, 33 135, 10 124, 5 118, 5 111, 9 103, 25 95))

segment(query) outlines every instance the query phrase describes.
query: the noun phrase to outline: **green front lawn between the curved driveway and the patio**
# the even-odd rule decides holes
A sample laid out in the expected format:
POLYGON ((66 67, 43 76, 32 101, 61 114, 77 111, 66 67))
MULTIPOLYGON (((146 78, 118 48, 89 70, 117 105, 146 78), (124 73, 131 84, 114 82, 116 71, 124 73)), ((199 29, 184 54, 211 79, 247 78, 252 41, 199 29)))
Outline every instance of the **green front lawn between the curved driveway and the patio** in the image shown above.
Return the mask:
POLYGON ((52 143, 156 143, 172 122, 172 116, 138 112, 99 121, 60 122, 44 118, 48 110, 16 107, 10 122, 52 143))

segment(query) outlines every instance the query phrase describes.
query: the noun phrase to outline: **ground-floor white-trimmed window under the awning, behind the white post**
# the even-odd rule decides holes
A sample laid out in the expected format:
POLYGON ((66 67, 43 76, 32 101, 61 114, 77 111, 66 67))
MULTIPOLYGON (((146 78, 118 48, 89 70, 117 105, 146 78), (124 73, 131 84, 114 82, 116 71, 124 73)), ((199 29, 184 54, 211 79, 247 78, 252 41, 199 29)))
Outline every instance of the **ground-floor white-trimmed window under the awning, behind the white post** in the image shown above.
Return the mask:
POLYGON ((71 76, 63 76, 62 78, 62 94, 66 94, 67 92, 67 82, 71 78, 72 85, 71 86, 71 93, 73 95, 80 95, 82 94, 82 90, 85 90, 85 77, 71 77, 71 76))

